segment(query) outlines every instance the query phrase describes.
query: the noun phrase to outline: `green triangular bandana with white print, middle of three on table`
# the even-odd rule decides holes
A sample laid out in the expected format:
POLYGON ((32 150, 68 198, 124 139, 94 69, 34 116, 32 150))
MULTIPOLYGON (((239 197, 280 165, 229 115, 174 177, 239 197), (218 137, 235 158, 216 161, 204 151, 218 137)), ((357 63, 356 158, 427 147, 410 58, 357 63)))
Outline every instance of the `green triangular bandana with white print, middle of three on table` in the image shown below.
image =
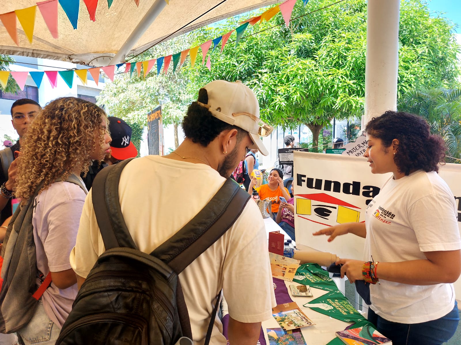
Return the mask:
POLYGON ((366 318, 339 291, 332 291, 303 305, 344 322, 363 322, 366 318))

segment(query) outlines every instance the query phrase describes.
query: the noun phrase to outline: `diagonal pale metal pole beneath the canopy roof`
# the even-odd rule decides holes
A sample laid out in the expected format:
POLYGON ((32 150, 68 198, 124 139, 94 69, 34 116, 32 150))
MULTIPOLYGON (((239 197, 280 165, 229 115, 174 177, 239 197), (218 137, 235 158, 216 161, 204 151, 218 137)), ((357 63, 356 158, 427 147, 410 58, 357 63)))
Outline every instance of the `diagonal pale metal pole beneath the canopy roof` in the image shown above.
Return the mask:
POLYGON ((155 18, 158 17, 160 12, 165 8, 165 0, 155 0, 151 8, 146 12, 144 17, 138 23, 136 28, 131 32, 130 37, 128 37, 121 46, 120 50, 110 62, 111 65, 124 62, 126 54, 130 52, 130 49, 136 44, 136 42, 141 38, 141 36, 146 32, 149 26, 154 23, 155 18))

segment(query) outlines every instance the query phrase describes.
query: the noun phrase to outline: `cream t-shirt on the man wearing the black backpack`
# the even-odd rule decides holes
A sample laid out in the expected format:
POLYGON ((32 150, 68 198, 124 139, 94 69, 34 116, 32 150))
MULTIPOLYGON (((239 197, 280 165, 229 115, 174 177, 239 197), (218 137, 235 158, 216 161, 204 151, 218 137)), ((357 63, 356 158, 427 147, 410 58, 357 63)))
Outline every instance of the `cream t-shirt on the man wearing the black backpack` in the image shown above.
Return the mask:
MULTIPOLYGON (((212 199, 225 178, 205 164, 148 155, 123 170, 120 206, 137 247, 152 252, 189 222, 212 199)), ((83 206, 71 265, 84 278, 105 251, 91 201, 83 206)), ((230 316, 262 322, 276 305, 263 219, 248 202, 234 225, 179 275, 195 345, 203 344, 221 288, 230 316)), ((214 321, 211 344, 226 344, 222 324, 214 321)))

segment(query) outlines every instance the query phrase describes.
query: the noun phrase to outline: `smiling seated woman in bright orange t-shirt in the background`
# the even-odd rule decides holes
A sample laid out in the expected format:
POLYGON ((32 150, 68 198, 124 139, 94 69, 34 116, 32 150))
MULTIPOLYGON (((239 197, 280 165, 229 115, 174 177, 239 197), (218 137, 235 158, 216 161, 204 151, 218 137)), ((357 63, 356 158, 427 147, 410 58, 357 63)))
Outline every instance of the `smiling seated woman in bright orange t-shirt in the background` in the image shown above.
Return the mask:
MULTIPOLYGON (((278 212, 278 207, 280 205, 280 196, 283 196, 285 200, 290 199, 290 193, 284 187, 284 181, 281 176, 282 172, 279 169, 272 169, 267 178, 268 184, 263 184, 260 188, 257 188, 260 200, 269 199, 272 202, 272 219, 275 220, 275 216, 278 212)), ((256 184, 256 178, 251 179, 250 185, 248 187, 248 193, 251 195, 253 193, 253 187, 256 184)))

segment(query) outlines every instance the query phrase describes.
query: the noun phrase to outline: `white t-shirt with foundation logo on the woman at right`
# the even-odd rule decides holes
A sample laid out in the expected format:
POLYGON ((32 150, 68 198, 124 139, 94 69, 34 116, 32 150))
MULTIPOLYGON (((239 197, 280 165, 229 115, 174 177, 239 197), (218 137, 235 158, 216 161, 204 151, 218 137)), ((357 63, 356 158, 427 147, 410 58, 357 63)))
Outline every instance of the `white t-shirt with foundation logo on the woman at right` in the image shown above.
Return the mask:
MULTIPOLYGON (((461 248, 455 197, 435 172, 418 170, 386 181, 366 208, 366 261, 426 259, 424 252, 461 248)), ((449 265, 449 263, 447 263, 449 265)), ((379 265, 378 265, 379 277, 379 265)), ((392 322, 436 320, 455 305, 453 284, 370 285, 371 308, 392 322)))

